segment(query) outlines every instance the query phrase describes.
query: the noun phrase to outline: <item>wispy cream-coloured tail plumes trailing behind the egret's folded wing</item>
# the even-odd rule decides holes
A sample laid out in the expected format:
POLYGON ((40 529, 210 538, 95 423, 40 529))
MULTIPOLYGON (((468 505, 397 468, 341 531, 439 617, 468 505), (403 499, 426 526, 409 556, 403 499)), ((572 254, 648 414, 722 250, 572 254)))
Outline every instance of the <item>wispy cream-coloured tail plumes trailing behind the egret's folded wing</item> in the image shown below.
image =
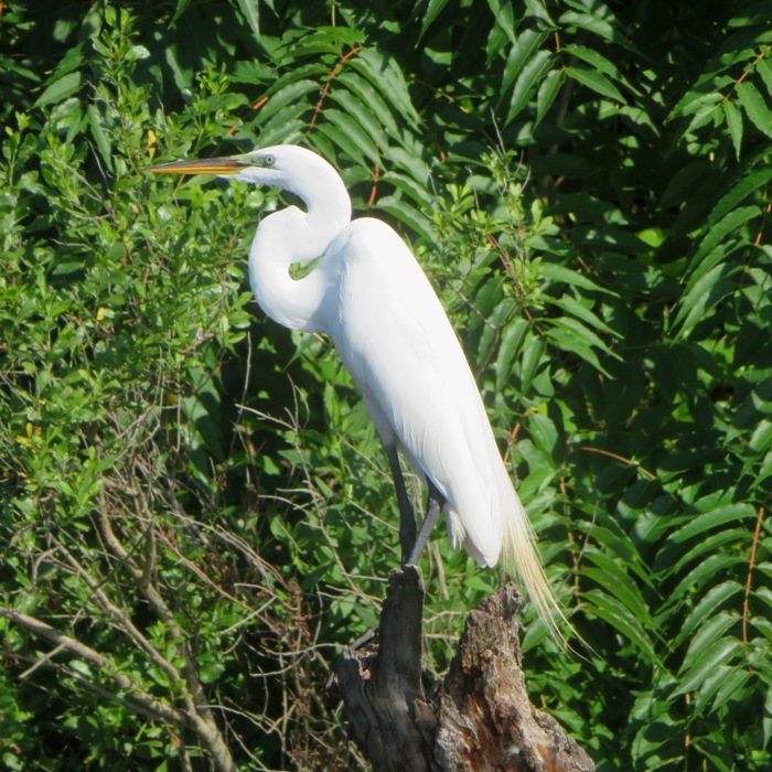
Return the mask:
POLYGON ((508 475, 507 486, 511 493, 507 496, 510 501, 503 518, 502 566, 507 573, 522 580, 549 634, 561 646, 566 646, 566 636, 559 623, 565 624, 572 633, 577 633, 566 619, 560 602, 553 592, 542 559, 536 551, 534 529, 508 475))

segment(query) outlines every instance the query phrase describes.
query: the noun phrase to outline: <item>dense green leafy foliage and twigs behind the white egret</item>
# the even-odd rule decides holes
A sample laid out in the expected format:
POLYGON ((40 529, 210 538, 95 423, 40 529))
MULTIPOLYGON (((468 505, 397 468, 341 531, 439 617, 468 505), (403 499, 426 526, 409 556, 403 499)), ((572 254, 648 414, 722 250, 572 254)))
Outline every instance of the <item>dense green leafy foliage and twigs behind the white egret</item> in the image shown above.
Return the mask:
MULTIPOLYGON (((324 684, 398 559, 385 457, 249 298, 276 193, 143 173, 300 142, 437 287, 594 651, 526 615, 535 701, 601 770, 769 769, 771 22, 2 6, 4 768, 366 768, 324 684)), ((439 532, 423 568, 441 674, 500 577, 439 532)))

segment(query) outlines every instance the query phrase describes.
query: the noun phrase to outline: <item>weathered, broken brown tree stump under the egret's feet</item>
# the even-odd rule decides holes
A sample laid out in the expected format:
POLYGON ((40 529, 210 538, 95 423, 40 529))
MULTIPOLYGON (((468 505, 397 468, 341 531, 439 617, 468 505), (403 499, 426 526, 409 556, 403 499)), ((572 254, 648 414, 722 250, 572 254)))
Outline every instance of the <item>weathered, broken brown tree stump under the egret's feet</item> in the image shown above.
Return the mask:
POLYGON ((467 619, 444 683, 421 667, 423 582, 392 571, 376 639, 335 665, 354 741, 376 772, 590 772, 594 764, 528 699, 514 585, 467 619))

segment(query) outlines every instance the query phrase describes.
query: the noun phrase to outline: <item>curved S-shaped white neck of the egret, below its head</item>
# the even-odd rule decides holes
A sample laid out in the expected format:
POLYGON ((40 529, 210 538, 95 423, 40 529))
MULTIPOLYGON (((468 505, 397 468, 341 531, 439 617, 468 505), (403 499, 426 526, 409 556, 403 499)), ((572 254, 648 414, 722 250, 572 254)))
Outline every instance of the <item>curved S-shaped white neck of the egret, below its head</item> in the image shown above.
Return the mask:
POLYGON ((304 200, 308 211, 290 206, 264 218, 249 250, 255 299, 275 322, 290 330, 328 331, 325 299, 333 278, 330 266, 323 258, 302 279, 293 279, 290 268, 322 257, 351 221, 349 193, 337 174, 334 178, 323 196, 293 191, 304 200))

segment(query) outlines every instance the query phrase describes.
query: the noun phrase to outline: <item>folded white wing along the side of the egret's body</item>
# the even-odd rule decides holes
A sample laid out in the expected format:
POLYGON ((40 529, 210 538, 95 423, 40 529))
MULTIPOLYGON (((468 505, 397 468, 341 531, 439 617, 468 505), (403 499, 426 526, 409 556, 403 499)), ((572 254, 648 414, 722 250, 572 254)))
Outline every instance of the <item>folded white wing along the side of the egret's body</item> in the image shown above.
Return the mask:
POLYGON ((433 289, 405 243, 377 219, 354 221, 328 260, 340 277, 330 332, 378 431, 447 498, 451 543, 495 565, 515 494, 433 289))

